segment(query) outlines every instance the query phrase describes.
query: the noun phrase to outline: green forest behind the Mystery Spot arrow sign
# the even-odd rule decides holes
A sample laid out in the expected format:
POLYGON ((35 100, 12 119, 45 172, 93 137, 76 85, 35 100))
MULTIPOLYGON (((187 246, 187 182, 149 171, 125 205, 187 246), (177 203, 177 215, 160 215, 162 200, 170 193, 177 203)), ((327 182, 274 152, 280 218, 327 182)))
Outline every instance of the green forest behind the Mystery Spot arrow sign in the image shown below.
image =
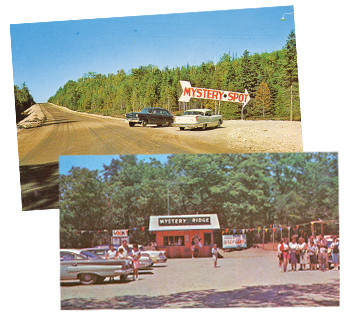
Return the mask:
MULTIPOLYGON (((232 54, 233 55, 233 54, 232 54)), ((234 92, 248 90, 251 100, 244 108, 246 119, 299 120, 295 34, 290 32, 286 45, 270 53, 250 54, 239 58, 224 53, 220 60, 201 65, 159 69, 155 65, 123 69, 107 76, 88 72, 77 81, 69 80, 48 102, 75 111, 121 116, 145 107, 163 107, 173 114, 189 108, 220 109, 224 119, 240 119, 242 104, 192 98, 179 102, 180 80, 193 87, 234 92)))

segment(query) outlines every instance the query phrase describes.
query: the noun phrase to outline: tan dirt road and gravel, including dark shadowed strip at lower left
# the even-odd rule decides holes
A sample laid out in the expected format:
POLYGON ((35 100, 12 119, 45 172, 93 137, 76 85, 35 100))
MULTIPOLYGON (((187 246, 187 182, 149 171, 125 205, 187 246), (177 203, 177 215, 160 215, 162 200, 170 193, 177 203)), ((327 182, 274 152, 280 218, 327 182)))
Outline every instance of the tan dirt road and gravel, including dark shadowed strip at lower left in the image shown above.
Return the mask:
POLYGON ((52 104, 41 107, 42 126, 11 126, 11 209, 57 210, 60 155, 302 152, 306 147, 305 122, 224 121, 220 128, 180 131, 129 127, 122 118, 52 104))

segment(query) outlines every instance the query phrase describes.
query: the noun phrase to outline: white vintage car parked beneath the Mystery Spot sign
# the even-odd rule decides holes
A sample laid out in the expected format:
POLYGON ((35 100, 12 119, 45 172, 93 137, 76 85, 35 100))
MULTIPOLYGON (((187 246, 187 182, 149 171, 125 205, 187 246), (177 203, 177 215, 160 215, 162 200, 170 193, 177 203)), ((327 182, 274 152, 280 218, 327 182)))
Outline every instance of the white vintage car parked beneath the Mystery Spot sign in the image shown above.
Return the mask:
POLYGON ((223 123, 222 115, 213 115, 212 110, 192 109, 184 112, 182 116, 175 116, 173 126, 180 130, 187 128, 220 127, 223 123))

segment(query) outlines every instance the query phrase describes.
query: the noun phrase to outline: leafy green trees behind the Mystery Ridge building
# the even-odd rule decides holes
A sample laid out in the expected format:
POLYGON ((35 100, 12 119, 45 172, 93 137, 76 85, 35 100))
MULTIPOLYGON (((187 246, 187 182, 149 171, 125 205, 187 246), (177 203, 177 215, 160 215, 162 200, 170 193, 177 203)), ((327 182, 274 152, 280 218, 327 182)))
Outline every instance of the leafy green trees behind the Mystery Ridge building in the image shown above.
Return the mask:
POLYGON ((231 234, 272 225, 310 229, 319 219, 328 233, 340 232, 339 152, 177 154, 165 163, 117 157, 102 171, 72 167, 60 175, 65 247, 95 246, 97 233, 113 229, 129 229, 146 244, 151 215, 218 214, 231 234))

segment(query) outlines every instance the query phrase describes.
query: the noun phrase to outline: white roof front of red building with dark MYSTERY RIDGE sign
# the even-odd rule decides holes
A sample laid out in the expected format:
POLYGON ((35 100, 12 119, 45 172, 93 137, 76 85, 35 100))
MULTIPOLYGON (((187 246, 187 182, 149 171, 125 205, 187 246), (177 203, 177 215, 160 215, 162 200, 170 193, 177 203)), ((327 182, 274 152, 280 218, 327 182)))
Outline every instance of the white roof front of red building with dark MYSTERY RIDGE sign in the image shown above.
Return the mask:
POLYGON ((216 214, 150 216, 149 231, 219 229, 216 214))

